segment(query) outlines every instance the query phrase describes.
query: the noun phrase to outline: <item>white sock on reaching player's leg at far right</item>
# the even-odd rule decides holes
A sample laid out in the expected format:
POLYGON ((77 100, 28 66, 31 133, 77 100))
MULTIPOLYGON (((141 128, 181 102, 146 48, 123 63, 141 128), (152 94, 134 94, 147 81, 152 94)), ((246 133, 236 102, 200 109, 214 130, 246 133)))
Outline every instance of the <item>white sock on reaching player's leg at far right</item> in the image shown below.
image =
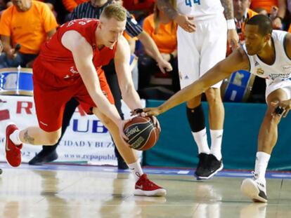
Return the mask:
POLYGON ((254 165, 254 174, 257 175, 257 179, 261 182, 266 182, 266 168, 268 167, 270 157, 270 154, 266 154, 263 151, 257 152, 256 163, 254 165))

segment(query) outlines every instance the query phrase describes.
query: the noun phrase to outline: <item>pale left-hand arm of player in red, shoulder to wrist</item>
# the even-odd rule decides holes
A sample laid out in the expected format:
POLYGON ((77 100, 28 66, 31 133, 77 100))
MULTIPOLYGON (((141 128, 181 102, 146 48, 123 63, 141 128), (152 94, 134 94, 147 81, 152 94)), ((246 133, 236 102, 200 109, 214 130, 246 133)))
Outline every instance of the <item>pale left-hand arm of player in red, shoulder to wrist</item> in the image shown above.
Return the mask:
POLYGON ((91 45, 81 34, 74 30, 63 34, 62 44, 72 52, 77 70, 93 102, 106 116, 110 117, 117 126, 121 125, 122 120, 115 105, 110 104, 101 90, 98 75, 96 74, 96 69, 92 62, 93 50, 91 45))

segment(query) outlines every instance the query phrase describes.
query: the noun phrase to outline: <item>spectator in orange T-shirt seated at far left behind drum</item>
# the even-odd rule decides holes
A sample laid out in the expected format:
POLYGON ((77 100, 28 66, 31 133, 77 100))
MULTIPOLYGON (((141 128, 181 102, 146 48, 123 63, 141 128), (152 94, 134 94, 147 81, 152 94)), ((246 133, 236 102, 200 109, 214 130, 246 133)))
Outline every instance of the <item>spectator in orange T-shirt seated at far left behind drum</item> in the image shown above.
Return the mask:
POLYGON ((58 24, 51 10, 42 2, 13 0, 12 3, 13 6, 1 15, 4 54, 0 57, 0 68, 30 67, 41 44, 56 32, 58 24), (15 50, 17 44, 20 44, 19 52, 15 50))

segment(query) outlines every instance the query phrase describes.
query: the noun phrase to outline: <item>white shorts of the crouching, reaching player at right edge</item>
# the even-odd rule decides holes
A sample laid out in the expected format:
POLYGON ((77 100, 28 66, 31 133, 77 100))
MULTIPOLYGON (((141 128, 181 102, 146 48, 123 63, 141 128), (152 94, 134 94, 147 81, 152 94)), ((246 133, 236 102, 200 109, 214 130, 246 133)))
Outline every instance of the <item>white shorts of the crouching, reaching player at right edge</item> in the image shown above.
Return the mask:
POLYGON ((285 91, 287 95, 287 100, 291 98, 291 80, 285 80, 285 81, 271 81, 269 79, 266 79, 266 102, 267 97, 273 93, 273 91, 282 89, 285 91))

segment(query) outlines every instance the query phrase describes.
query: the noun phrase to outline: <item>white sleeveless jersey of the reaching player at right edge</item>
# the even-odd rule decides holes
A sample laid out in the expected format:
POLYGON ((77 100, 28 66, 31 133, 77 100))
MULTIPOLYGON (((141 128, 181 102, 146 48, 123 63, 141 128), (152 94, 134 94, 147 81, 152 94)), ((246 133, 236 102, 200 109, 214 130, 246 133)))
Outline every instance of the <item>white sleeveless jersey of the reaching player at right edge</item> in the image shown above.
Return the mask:
MULTIPOLYGON (((285 81, 291 79, 291 60, 285 51, 285 36, 287 32, 273 30, 272 39, 275 46, 275 62, 271 65, 262 62, 257 55, 247 55, 250 60, 250 72, 256 76, 271 81, 285 81)), ((245 53, 247 49, 243 45, 245 53)), ((268 83, 267 83, 268 84, 268 83)))

